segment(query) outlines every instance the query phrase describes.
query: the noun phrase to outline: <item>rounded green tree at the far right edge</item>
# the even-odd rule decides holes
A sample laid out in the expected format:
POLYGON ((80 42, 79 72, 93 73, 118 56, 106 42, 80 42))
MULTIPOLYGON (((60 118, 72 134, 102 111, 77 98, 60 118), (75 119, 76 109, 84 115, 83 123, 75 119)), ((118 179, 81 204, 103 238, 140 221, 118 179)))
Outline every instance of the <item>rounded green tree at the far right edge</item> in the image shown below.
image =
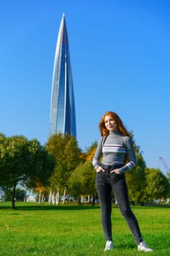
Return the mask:
POLYGON ((150 200, 166 199, 169 195, 169 181, 160 169, 146 168, 147 177, 147 198, 150 200))

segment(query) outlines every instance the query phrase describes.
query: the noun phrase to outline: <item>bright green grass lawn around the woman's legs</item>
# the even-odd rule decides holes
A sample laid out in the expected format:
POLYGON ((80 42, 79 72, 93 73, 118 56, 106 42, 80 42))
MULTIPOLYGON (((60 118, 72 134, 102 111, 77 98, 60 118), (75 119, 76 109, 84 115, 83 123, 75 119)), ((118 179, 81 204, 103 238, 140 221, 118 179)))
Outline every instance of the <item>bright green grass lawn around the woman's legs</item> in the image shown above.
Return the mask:
MULTIPOLYGON (((150 255, 170 255, 170 208, 132 207, 150 255)), ((99 206, 39 206, 37 203, 0 203, 0 255, 100 256, 144 255, 138 252, 125 220, 112 208, 115 249, 104 252, 99 206)), ((148 254, 147 253, 147 254, 148 254)))

